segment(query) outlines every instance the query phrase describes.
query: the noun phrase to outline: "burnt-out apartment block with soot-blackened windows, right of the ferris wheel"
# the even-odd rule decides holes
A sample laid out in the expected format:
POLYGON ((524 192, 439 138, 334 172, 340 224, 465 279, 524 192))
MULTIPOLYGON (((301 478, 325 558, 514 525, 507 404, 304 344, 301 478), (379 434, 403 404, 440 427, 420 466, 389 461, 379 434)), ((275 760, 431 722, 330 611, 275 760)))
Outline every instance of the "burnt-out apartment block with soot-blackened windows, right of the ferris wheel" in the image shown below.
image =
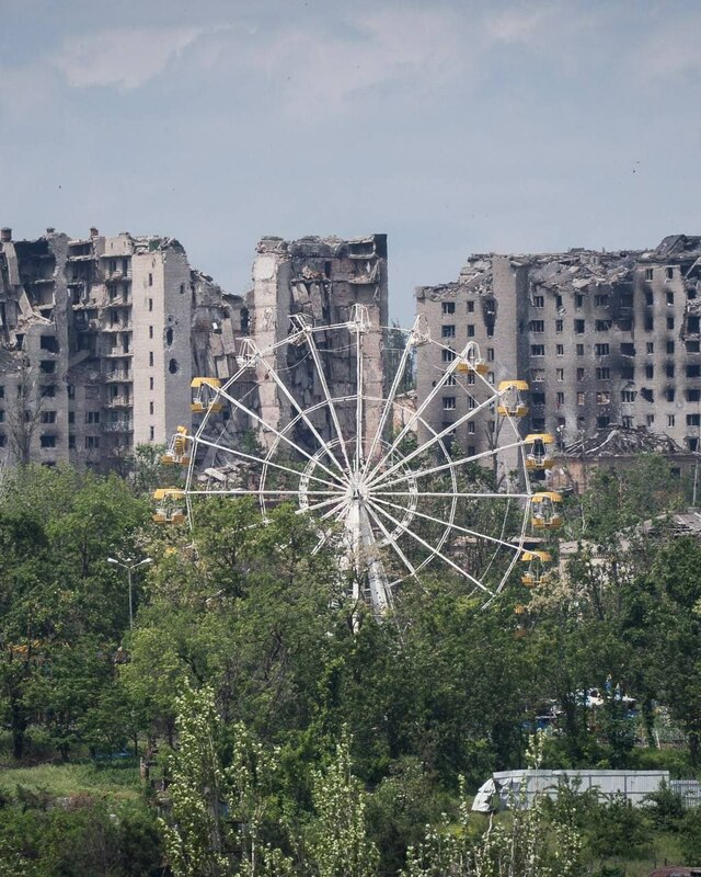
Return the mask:
MULTIPOLYGON (((473 340, 490 381, 528 381, 527 432, 566 446, 619 424, 701 449, 701 237, 670 236, 652 251, 475 255, 458 281, 420 287, 416 299, 448 349, 418 349, 418 402, 473 340)), ((467 390, 444 387, 427 420, 457 421, 479 400, 476 386, 467 390)), ((456 437, 481 453, 494 430, 486 414, 456 437)))

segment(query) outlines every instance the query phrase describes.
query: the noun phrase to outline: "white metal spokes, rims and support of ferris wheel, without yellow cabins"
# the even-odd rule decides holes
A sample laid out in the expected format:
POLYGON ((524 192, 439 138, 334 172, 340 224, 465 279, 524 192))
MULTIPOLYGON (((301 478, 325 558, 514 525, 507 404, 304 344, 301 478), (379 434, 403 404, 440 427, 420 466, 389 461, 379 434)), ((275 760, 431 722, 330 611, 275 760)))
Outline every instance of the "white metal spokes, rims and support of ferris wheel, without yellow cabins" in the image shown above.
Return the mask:
MULTIPOLYGON (((451 348, 430 338, 425 319, 422 317, 416 318, 411 329, 398 329, 398 327, 379 327, 378 329, 371 329, 367 309, 360 305, 354 305, 353 318, 348 322, 313 326, 308 323, 302 315, 292 315, 290 317, 290 328, 291 331, 288 335, 269 344, 263 350, 258 350, 254 340, 251 338, 239 339, 240 355, 237 357, 239 369, 222 385, 220 385, 220 381, 207 384, 207 379, 203 379, 208 389, 216 396, 218 402, 226 402, 231 406, 233 410, 243 413, 249 419, 249 422, 255 425, 257 430, 269 433, 273 441, 267 449, 262 452, 262 456, 258 456, 256 453, 244 452, 231 444, 220 444, 218 440, 212 440, 206 435, 211 409, 207 408, 207 410, 205 410, 196 432, 192 435, 187 435, 187 440, 192 443, 192 448, 187 465, 184 494, 191 526, 193 523, 192 501, 196 497, 255 497, 264 520, 266 516, 267 503, 271 501, 279 502, 296 499, 298 504, 296 513, 314 514, 321 524, 317 551, 331 537, 332 532, 334 532, 334 525, 343 525, 345 531, 345 559, 343 565, 348 570, 355 570, 357 573, 354 577, 354 596, 356 599, 361 597, 360 581, 365 580, 371 608, 377 615, 381 615, 387 612, 388 608, 391 608, 393 604, 392 593, 399 582, 410 577, 417 579, 421 570, 435 560, 440 561, 445 567, 452 570, 452 572, 466 579, 471 586, 470 593, 481 592, 484 596, 483 606, 490 605, 505 586, 516 562, 522 555, 526 531, 531 513, 531 500, 535 496, 531 490, 528 468, 526 466, 525 440, 519 433, 517 418, 512 417, 509 413, 499 414, 499 417, 510 425, 514 434, 513 442, 504 445, 499 445, 498 442, 495 442, 495 446, 487 451, 483 451, 479 454, 468 454, 458 459, 452 458, 444 440, 457 428, 469 422, 480 412, 485 411, 490 407, 496 408, 499 399, 502 399, 507 391, 506 389, 497 389, 479 369, 472 369, 471 374, 474 375, 475 383, 479 380, 482 387, 486 388, 487 398, 484 401, 469 408, 466 414, 460 415, 455 422, 451 422, 448 426, 444 426, 444 429, 439 431, 436 431, 423 417, 429 406, 438 397, 441 389, 446 386, 462 386, 456 385, 453 377, 456 369, 460 363, 474 361, 475 354, 479 356, 476 344, 470 341, 462 351, 453 351, 451 348), (355 340, 356 392, 347 396, 334 397, 330 390, 322 361, 322 353, 315 342, 315 335, 321 332, 325 333, 338 330, 347 330, 350 334, 352 342, 355 340), (387 338, 387 333, 390 331, 400 331, 406 335, 406 342, 402 351, 399 366, 393 376, 390 389, 387 396, 383 397, 369 396, 365 392, 365 356, 363 342, 368 331, 380 332, 382 333, 381 337, 384 338, 387 338), (323 394, 323 398, 320 401, 308 408, 303 408, 299 400, 296 399, 295 395, 285 384, 277 367, 276 354, 290 344, 297 346, 304 344, 307 346, 309 355, 313 361, 314 374, 317 375, 319 386, 323 394), (435 381, 426 398, 416 407, 416 410, 403 409, 409 414, 409 419, 393 438, 387 440, 383 436, 387 431, 388 421, 392 417, 394 406, 398 405, 397 397, 402 377, 412 352, 422 344, 434 344, 440 350, 450 351, 452 360, 445 363, 446 367, 441 369, 440 377, 435 381), (286 399, 290 403, 295 414, 290 417, 284 425, 275 426, 267 423, 256 411, 246 406, 245 401, 237 399, 234 395, 230 392, 237 383, 241 381, 243 378, 246 379, 246 383, 251 383, 251 373, 253 369, 256 369, 258 373, 256 375, 257 380, 260 380, 260 372, 262 369, 265 379, 272 380, 275 384, 280 399, 286 399), (344 434, 337 413, 338 405, 348 405, 349 402, 355 402, 356 431, 354 435, 344 434), (381 408, 378 426, 371 437, 365 435, 366 424, 364 417, 367 402, 377 403, 381 408), (322 409, 329 411, 331 425, 335 431, 335 437, 332 440, 325 440, 311 420, 311 415, 322 409), (304 424, 319 445, 314 453, 310 453, 291 437, 295 428, 300 423, 304 424), (410 453, 402 455, 400 452, 401 444, 416 425, 421 425, 422 429, 428 433, 428 438, 417 443, 417 447, 410 453), (368 440, 369 448, 366 453, 368 440), (204 489, 200 489, 197 482, 196 471, 197 449, 199 446, 261 466, 262 475, 257 487, 216 489, 207 485, 204 489), (421 468, 423 464, 420 463, 418 469, 412 469, 410 467, 409 464, 414 460, 421 460, 422 456, 434 446, 439 449, 444 462, 427 467, 424 466, 423 468, 421 468), (289 448, 304 463, 304 468, 301 471, 286 466, 279 460, 273 459, 281 447, 286 449, 289 448), (474 492, 460 489, 458 476, 468 465, 493 458, 498 454, 503 454, 505 451, 516 452, 519 466, 519 481, 522 485, 520 492, 474 492), (297 489, 268 489, 266 485, 268 482, 271 469, 285 471, 298 478, 299 483, 297 489), (426 490, 422 491, 418 487, 420 480, 438 472, 446 472, 448 475, 450 490, 433 492, 426 490), (400 504, 397 501, 400 498, 409 498, 409 505, 400 504), (426 511, 420 511, 417 508, 418 498, 449 500, 446 517, 437 517, 434 514, 428 514, 426 511), (522 508, 519 531, 508 540, 505 538, 504 529, 502 529, 501 536, 497 537, 457 524, 456 511, 457 503, 460 499, 489 500, 493 502, 503 502, 506 500, 507 508, 504 513, 504 522, 508 513, 508 503, 513 500, 517 501, 522 508), (415 533, 411 527, 411 523, 414 519, 435 524, 443 528, 443 533, 438 538, 434 539, 432 544, 420 534, 415 533), (456 562, 441 550, 446 542, 453 534, 464 535, 471 539, 483 539, 485 543, 496 546, 495 554, 492 556, 487 569, 495 560, 496 550, 505 549, 513 553, 499 581, 495 585, 487 586, 484 581, 481 580, 480 571, 475 570, 475 574, 473 574, 473 572, 464 569, 460 563, 456 562), (401 536, 410 537, 415 545, 421 546, 421 548, 427 551, 426 556, 413 562, 399 544, 401 536), (381 551, 386 548, 392 549, 395 558, 400 561, 400 566, 405 570, 399 578, 392 579, 386 571, 381 557, 381 551)), ((350 346, 353 346, 353 344, 350 346)), ((467 388, 464 388, 464 392, 467 395, 467 388)), ((507 487, 510 487, 510 482, 508 481, 507 487)), ((481 574, 483 579, 485 571, 481 571, 481 574)))

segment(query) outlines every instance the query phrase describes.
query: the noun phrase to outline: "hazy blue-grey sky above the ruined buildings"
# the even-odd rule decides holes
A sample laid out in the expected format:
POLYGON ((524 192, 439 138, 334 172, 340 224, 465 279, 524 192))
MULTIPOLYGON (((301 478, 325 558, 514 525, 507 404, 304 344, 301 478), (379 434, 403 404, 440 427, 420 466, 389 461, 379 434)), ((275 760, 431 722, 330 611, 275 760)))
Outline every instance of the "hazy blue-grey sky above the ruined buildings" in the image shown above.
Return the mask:
POLYGON ((391 310, 471 252, 701 234, 701 2, 0 0, 0 225, 386 231, 391 310))

